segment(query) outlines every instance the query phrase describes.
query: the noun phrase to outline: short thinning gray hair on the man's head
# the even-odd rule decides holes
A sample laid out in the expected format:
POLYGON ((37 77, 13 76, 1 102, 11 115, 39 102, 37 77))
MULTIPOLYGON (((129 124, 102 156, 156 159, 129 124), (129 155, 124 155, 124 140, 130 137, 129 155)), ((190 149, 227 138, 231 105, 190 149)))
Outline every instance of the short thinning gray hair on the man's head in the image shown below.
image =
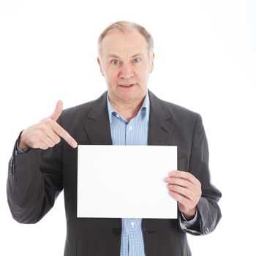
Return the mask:
POLYGON ((143 27, 140 26, 137 23, 129 22, 129 21, 117 21, 115 23, 110 24, 104 31, 102 31, 102 34, 100 34, 99 39, 98 39, 98 54, 99 56, 101 55, 101 43, 102 39, 110 32, 113 30, 118 30, 121 32, 125 31, 132 31, 132 29, 137 29, 138 32, 145 37, 146 42, 148 43, 148 52, 151 53, 154 48, 154 41, 153 37, 151 34, 148 33, 148 31, 143 27))

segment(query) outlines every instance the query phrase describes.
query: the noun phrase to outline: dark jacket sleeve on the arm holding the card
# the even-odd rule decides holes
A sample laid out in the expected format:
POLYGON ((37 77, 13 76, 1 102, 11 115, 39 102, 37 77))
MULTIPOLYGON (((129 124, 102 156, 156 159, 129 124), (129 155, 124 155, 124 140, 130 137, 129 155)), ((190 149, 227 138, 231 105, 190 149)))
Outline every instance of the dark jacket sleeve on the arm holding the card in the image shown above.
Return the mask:
POLYGON ((192 139, 192 148, 189 158, 189 173, 192 173, 201 183, 202 195, 197 203, 198 220, 193 228, 187 228, 181 222, 181 229, 192 235, 206 235, 211 233, 222 217, 218 201, 222 197, 221 192, 211 184, 211 176, 208 168, 208 143, 203 128, 202 118, 198 115, 192 139))

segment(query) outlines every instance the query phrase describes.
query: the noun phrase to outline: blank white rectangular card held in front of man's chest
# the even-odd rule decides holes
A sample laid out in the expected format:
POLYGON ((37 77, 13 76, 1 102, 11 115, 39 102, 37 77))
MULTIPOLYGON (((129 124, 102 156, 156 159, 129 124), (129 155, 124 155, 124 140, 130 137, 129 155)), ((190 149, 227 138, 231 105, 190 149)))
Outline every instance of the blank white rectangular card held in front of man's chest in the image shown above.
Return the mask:
POLYGON ((78 217, 176 219, 176 146, 78 146, 78 217))

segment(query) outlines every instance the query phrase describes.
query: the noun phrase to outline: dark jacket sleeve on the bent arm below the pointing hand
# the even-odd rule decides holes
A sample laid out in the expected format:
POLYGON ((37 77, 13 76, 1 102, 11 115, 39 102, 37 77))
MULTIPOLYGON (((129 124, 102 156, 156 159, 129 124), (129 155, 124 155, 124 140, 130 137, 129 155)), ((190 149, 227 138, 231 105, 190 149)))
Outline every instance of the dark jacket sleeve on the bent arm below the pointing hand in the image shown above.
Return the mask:
POLYGON ((35 223, 53 207, 63 188, 62 142, 47 150, 31 148, 17 154, 17 141, 9 162, 7 201, 17 222, 35 223))

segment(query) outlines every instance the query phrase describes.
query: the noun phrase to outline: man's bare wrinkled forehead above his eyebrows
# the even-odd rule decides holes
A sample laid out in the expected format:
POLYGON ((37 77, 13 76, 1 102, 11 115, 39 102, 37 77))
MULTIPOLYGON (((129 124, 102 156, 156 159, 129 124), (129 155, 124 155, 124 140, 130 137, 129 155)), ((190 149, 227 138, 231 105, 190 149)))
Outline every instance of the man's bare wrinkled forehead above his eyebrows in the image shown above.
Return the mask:
POLYGON ((124 56, 127 54, 146 53, 148 44, 145 37, 136 29, 132 31, 110 31, 101 43, 102 55, 116 54, 124 56))

